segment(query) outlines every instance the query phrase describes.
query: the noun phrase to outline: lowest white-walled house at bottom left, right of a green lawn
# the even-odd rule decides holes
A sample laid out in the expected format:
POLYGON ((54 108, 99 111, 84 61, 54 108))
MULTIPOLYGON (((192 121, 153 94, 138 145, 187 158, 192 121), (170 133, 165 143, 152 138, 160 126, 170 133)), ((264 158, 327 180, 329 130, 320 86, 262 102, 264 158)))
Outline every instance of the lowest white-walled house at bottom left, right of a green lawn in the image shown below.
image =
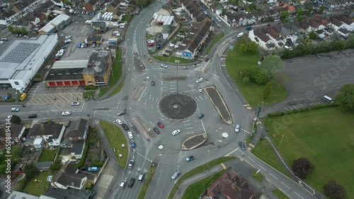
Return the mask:
POLYGON ((57 174, 53 176, 51 184, 57 188, 84 189, 86 187, 87 177, 78 173, 79 169, 77 169, 74 164, 64 164, 57 174))

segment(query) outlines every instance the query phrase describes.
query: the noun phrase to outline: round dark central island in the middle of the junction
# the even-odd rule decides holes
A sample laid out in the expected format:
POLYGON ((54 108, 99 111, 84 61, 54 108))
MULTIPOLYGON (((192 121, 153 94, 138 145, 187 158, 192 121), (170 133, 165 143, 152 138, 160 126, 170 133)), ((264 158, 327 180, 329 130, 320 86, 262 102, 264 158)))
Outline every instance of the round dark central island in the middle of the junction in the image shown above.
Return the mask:
POLYGON ((159 110, 169 119, 187 119, 197 111, 197 102, 193 97, 184 93, 170 94, 162 97, 159 110))

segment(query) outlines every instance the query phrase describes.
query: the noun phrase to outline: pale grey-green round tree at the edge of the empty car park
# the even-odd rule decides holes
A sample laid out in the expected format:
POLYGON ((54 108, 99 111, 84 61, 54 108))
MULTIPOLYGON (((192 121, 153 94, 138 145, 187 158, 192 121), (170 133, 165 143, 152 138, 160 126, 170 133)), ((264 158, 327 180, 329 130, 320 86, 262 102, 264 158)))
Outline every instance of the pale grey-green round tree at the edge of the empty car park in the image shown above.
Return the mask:
POLYGON ((268 78, 273 78, 275 73, 284 68, 284 62, 282 62, 280 56, 270 54, 264 57, 261 65, 259 66, 268 78))

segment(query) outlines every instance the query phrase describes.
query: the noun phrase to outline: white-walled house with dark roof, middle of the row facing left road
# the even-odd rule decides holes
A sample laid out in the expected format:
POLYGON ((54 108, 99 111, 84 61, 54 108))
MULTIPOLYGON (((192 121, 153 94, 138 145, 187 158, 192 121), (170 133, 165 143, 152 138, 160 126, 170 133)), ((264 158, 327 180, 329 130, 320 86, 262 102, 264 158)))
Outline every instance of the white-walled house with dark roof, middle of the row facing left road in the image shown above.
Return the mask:
POLYGON ((60 145, 64 131, 65 126, 61 123, 40 123, 30 128, 28 137, 32 139, 43 138, 50 147, 56 147, 60 145))

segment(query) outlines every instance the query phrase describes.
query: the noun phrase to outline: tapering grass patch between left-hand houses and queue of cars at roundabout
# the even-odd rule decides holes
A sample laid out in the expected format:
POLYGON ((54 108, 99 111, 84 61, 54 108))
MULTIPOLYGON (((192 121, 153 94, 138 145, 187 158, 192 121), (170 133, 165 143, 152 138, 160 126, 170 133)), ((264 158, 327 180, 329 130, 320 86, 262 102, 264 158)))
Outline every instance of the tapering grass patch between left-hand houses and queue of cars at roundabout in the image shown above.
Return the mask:
POLYGON ((105 137, 110 143, 110 146, 115 148, 115 157, 117 157, 120 167, 124 169, 127 164, 128 148, 130 147, 127 143, 127 138, 125 138, 125 134, 115 123, 101 120, 101 126, 103 131, 105 131, 105 137), (122 144, 124 144, 125 147, 122 147, 122 144), (122 157, 119 157, 118 154, 122 154, 122 157))

